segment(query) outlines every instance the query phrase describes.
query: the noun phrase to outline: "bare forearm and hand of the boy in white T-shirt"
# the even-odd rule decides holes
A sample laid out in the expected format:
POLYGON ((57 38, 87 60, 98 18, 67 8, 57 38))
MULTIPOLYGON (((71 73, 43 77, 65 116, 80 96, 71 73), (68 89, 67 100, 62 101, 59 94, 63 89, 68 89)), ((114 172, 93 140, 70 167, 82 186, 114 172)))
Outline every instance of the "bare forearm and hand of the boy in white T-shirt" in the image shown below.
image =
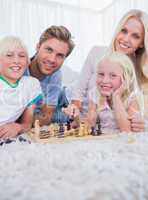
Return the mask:
POLYGON ((13 122, 0 126, 0 138, 13 138, 20 133, 28 131, 32 126, 34 108, 34 105, 27 108, 22 114, 20 122, 13 122))

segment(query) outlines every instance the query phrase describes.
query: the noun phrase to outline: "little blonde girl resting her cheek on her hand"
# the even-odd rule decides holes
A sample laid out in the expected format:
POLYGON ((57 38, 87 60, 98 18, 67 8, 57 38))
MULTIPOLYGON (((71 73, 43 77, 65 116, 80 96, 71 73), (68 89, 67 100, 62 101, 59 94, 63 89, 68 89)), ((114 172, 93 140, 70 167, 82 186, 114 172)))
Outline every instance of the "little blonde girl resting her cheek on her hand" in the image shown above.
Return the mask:
POLYGON ((143 114, 132 61, 123 53, 109 53, 98 65, 96 82, 101 131, 131 131, 129 117, 143 114))

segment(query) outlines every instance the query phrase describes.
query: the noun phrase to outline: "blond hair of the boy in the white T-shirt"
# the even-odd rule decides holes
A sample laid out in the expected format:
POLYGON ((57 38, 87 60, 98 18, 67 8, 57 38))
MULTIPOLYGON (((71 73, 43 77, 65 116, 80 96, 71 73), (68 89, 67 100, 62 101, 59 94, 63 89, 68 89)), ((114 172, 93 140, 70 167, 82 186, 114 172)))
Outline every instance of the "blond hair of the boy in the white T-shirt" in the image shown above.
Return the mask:
POLYGON ((0 40, 0 55, 5 55, 8 51, 16 48, 22 48, 26 52, 26 56, 29 62, 27 48, 19 37, 6 36, 0 40))

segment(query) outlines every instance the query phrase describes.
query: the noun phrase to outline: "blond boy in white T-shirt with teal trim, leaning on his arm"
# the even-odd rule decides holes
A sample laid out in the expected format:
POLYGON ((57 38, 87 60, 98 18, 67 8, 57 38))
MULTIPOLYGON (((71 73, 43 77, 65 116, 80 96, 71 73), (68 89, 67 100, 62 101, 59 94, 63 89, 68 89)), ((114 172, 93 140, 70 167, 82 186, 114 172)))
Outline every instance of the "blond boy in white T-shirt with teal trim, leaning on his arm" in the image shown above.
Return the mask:
POLYGON ((31 128, 35 105, 42 99, 39 81, 23 76, 28 64, 26 47, 19 38, 0 40, 0 139, 31 128))

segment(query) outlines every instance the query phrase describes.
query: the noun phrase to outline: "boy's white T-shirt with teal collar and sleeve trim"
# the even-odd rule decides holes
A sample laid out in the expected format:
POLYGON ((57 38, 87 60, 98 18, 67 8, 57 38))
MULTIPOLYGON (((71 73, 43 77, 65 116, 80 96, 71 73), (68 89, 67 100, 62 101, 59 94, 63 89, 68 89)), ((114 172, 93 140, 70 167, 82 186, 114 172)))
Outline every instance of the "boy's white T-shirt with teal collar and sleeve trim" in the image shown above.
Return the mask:
POLYGON ((23 76, 15 85, 0 76, 0 125, 15 122, 24 110, 42 99, 36 78, 23 76))

